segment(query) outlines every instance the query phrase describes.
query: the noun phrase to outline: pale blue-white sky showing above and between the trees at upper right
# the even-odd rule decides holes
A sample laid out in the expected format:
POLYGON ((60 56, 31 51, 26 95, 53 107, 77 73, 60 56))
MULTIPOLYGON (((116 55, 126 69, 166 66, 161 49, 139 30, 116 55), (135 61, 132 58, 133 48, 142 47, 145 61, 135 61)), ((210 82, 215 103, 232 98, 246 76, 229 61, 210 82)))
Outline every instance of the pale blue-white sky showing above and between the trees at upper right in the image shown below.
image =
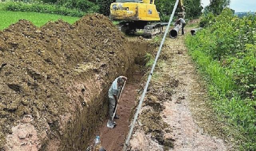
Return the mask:
MULTIPOLYGON (((207 6, 210 0, 201 0, 202 6, 207 6)), ((256 12, 256 0, 230 0, 230 8, 235 12, 256 12)))

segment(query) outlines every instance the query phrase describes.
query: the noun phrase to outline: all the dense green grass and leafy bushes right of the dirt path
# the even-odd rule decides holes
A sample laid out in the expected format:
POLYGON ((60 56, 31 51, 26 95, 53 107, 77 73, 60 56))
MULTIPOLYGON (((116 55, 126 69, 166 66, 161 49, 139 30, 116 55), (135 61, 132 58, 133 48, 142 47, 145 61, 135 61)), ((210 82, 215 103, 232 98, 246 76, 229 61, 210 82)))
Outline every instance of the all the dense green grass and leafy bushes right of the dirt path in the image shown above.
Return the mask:
POLYGON ((216 113, 236 127, 243 149, 255 150, 256 17, 241 19, 224 9, 203 16, 201 25, 206 28, 186 38, 189 52, 208 81, 216 113))

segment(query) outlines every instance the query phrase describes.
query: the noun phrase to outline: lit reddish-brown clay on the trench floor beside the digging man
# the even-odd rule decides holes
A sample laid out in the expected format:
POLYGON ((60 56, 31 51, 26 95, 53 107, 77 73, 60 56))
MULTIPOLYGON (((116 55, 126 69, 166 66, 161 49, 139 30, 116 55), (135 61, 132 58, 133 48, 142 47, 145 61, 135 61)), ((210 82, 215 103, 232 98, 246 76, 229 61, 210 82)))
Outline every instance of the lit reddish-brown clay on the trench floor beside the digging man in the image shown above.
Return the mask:
MULTIPOLYGON (((140 77, 137 78, 140 79, 140 77)), ((123 148, 123 143, 129 131, 131 111, 135 106, 136 89, 138 88, 138 83, 128 82, 125 85, 120 103, 117 106, 117 114, 119 115, 119 119, 115 120, 117 126, 113 129, 107 128, 107 120, 105 120, 103 126, 99 129, 101 146, 107 151, 121 151, 123 148)))

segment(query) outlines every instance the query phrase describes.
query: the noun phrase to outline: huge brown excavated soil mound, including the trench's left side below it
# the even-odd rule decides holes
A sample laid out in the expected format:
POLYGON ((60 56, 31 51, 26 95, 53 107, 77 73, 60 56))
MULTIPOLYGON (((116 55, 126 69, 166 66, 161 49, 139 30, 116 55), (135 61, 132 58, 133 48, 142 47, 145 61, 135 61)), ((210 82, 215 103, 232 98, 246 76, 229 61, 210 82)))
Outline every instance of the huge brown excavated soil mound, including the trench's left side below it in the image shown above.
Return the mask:
MULTIPOLYGON (((133 46, 134 47, 134 46, 133 46)), ((0 31, 0 150, 84 150, 136 53, 107 17, 0 31)))

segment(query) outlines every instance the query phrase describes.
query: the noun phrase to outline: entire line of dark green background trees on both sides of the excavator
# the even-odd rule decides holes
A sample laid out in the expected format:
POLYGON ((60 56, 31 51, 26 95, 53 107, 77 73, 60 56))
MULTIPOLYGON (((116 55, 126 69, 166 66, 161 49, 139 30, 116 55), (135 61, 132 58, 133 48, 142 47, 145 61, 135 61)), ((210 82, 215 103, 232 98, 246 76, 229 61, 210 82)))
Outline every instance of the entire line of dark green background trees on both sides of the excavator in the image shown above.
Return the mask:
MULTIPOLYGON (((29 2, 39 4, 53 4, 67 9, 75 9, 81 12, 97 12, 103 15, 109 15, 110 4, 115 0, 12 0, 15 2, 29 2), (89 10, 89 11, 88 11, 89 10)), ((157 11, 160 14, 161 21, 166 22, 173 11, 176 0, 155 0, 157 11)), ((198 18, 202 14, 201 0, 183 0, 186 16, 188 18, 198 18)), ((230 3, 230 0, 210 0, 209 6, 206 6, 204 13, 211 12, 219 15, 230 3)), ((178 7, 176 13, 182 10, 178 7)), ((177 15, 177 14, 176 14, 177 15)))

